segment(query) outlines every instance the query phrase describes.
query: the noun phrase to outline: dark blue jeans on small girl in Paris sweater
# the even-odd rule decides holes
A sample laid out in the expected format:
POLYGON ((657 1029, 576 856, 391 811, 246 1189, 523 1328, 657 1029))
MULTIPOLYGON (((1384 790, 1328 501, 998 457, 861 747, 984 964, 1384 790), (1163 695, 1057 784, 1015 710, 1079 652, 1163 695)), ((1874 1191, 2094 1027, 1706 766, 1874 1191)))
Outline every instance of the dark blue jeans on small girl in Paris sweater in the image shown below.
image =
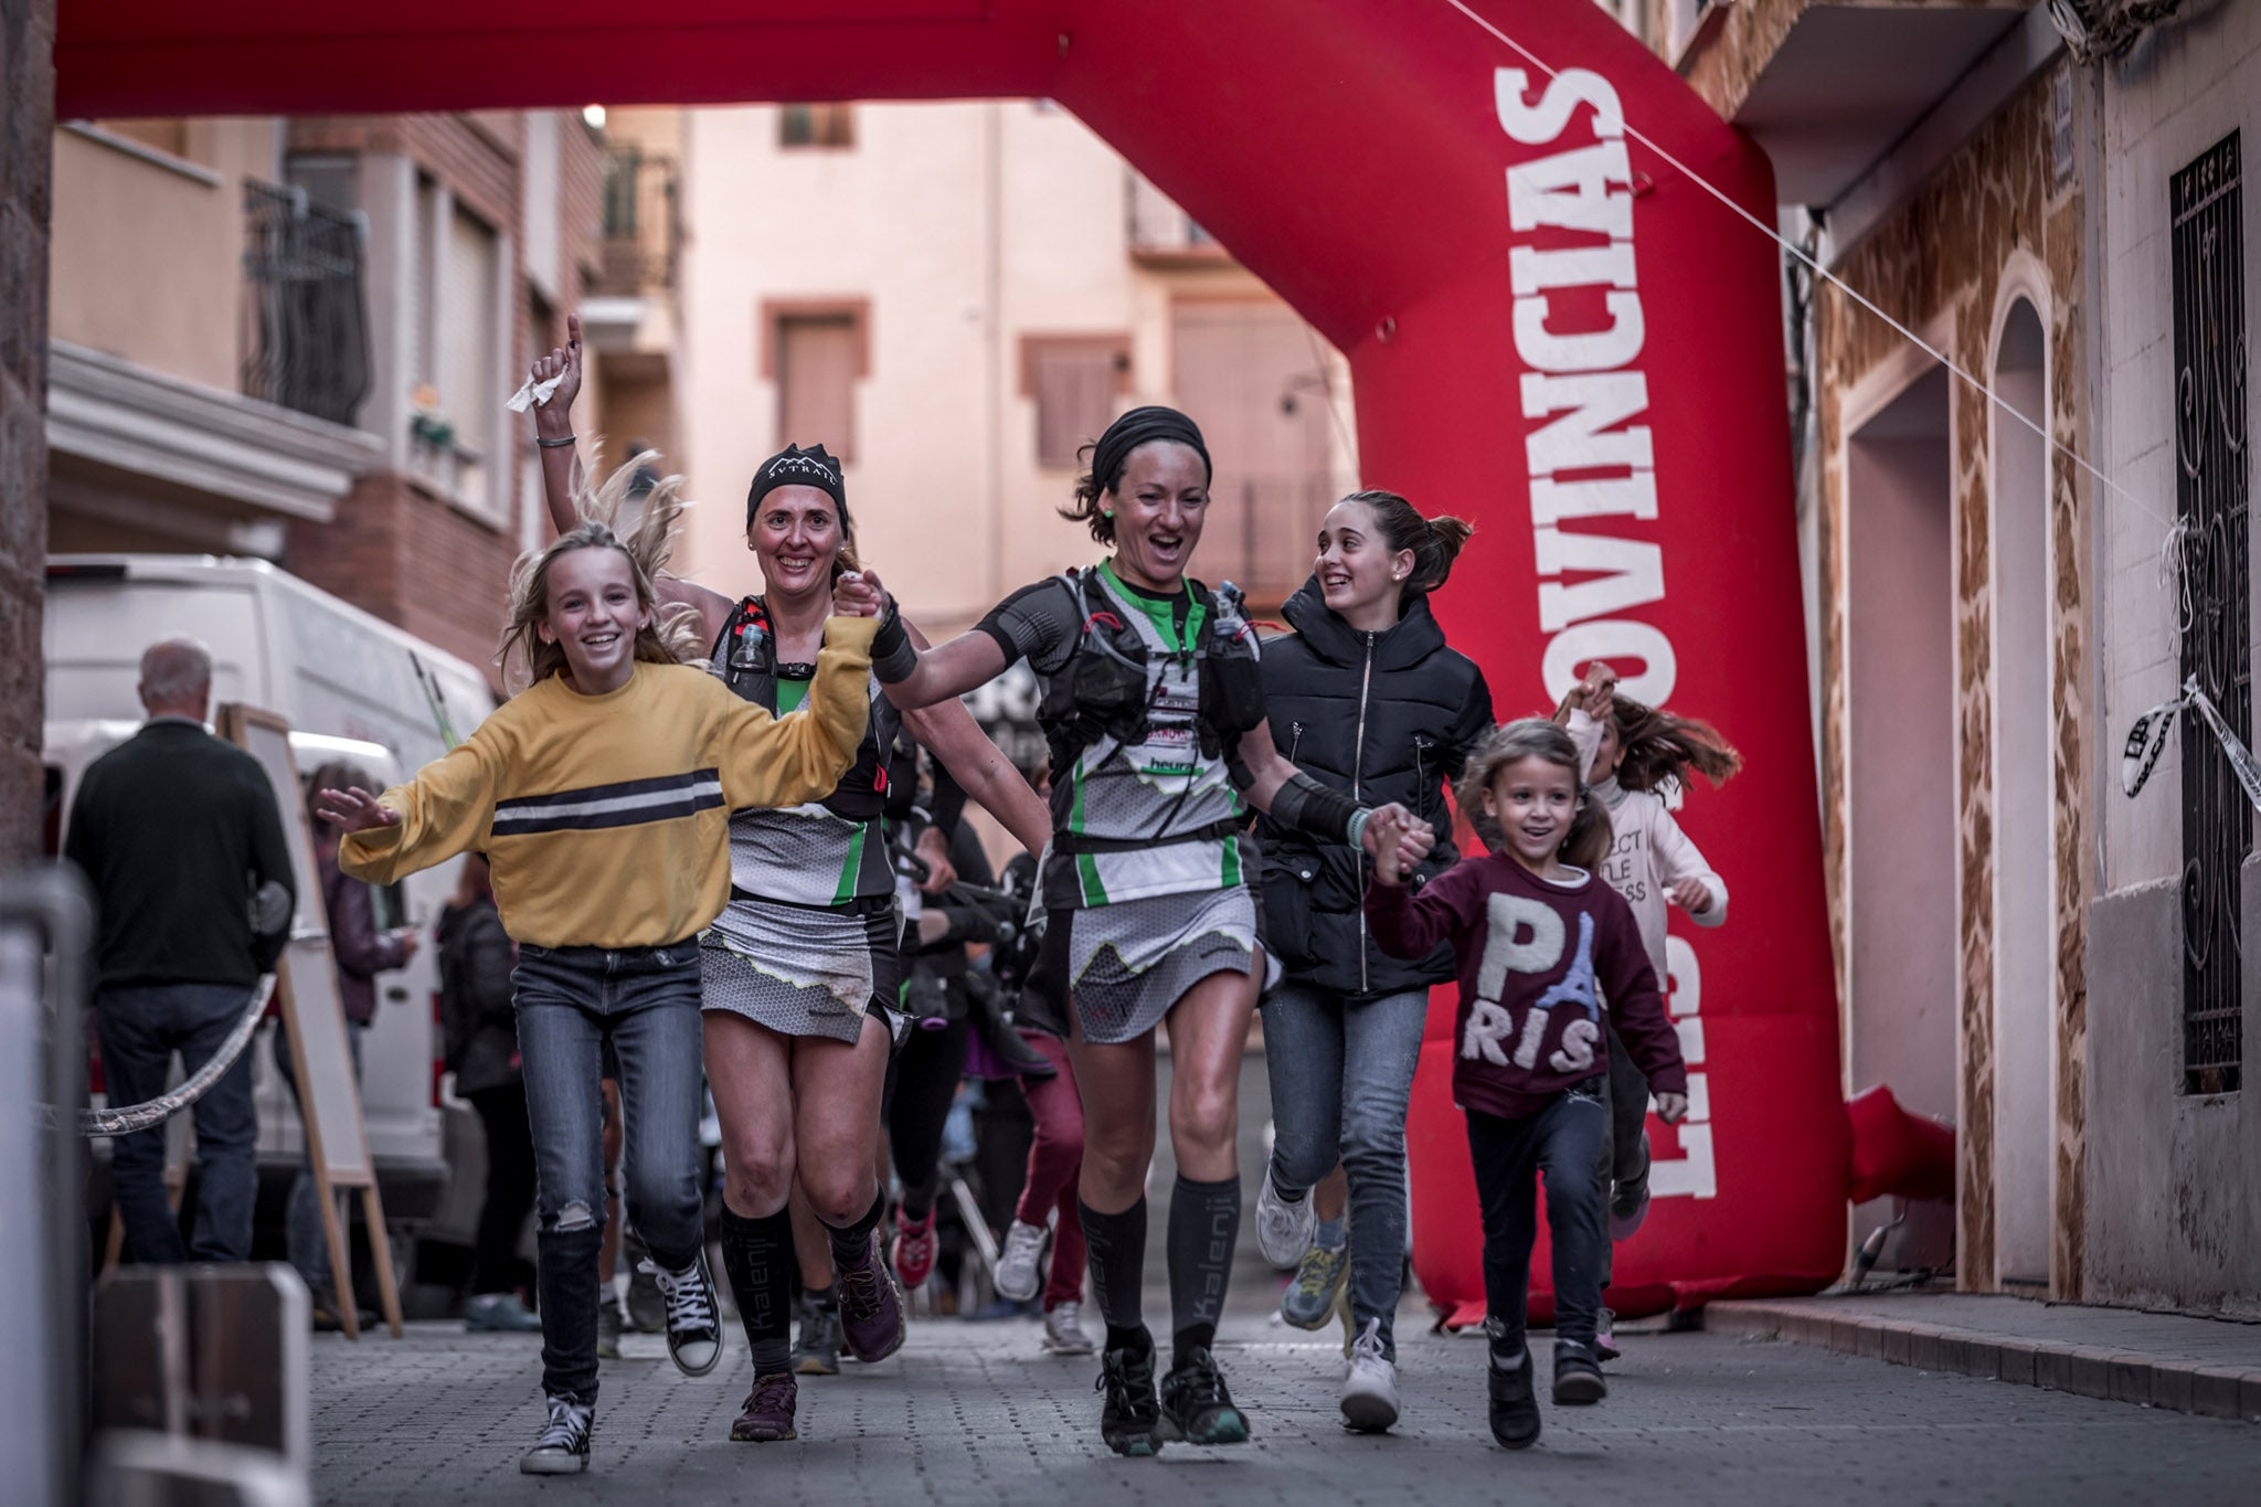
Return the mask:
POLYGON ((1556 1340, 1594 1344, 1603 1225, 1601 1136, 1610 1109, 1601 1080, 1567 1089, 1537 1114, 1504 1121, 1467 1112, 1467 1152, 1483 1209, 1483 1306, 1497 1324, 1492 1347, 1519 1353, 1531 1304, 1531 1243, 1537 1238, 1537 1177, 1547 1175, 1547 1234, 1553 1236, 1556 1340))

